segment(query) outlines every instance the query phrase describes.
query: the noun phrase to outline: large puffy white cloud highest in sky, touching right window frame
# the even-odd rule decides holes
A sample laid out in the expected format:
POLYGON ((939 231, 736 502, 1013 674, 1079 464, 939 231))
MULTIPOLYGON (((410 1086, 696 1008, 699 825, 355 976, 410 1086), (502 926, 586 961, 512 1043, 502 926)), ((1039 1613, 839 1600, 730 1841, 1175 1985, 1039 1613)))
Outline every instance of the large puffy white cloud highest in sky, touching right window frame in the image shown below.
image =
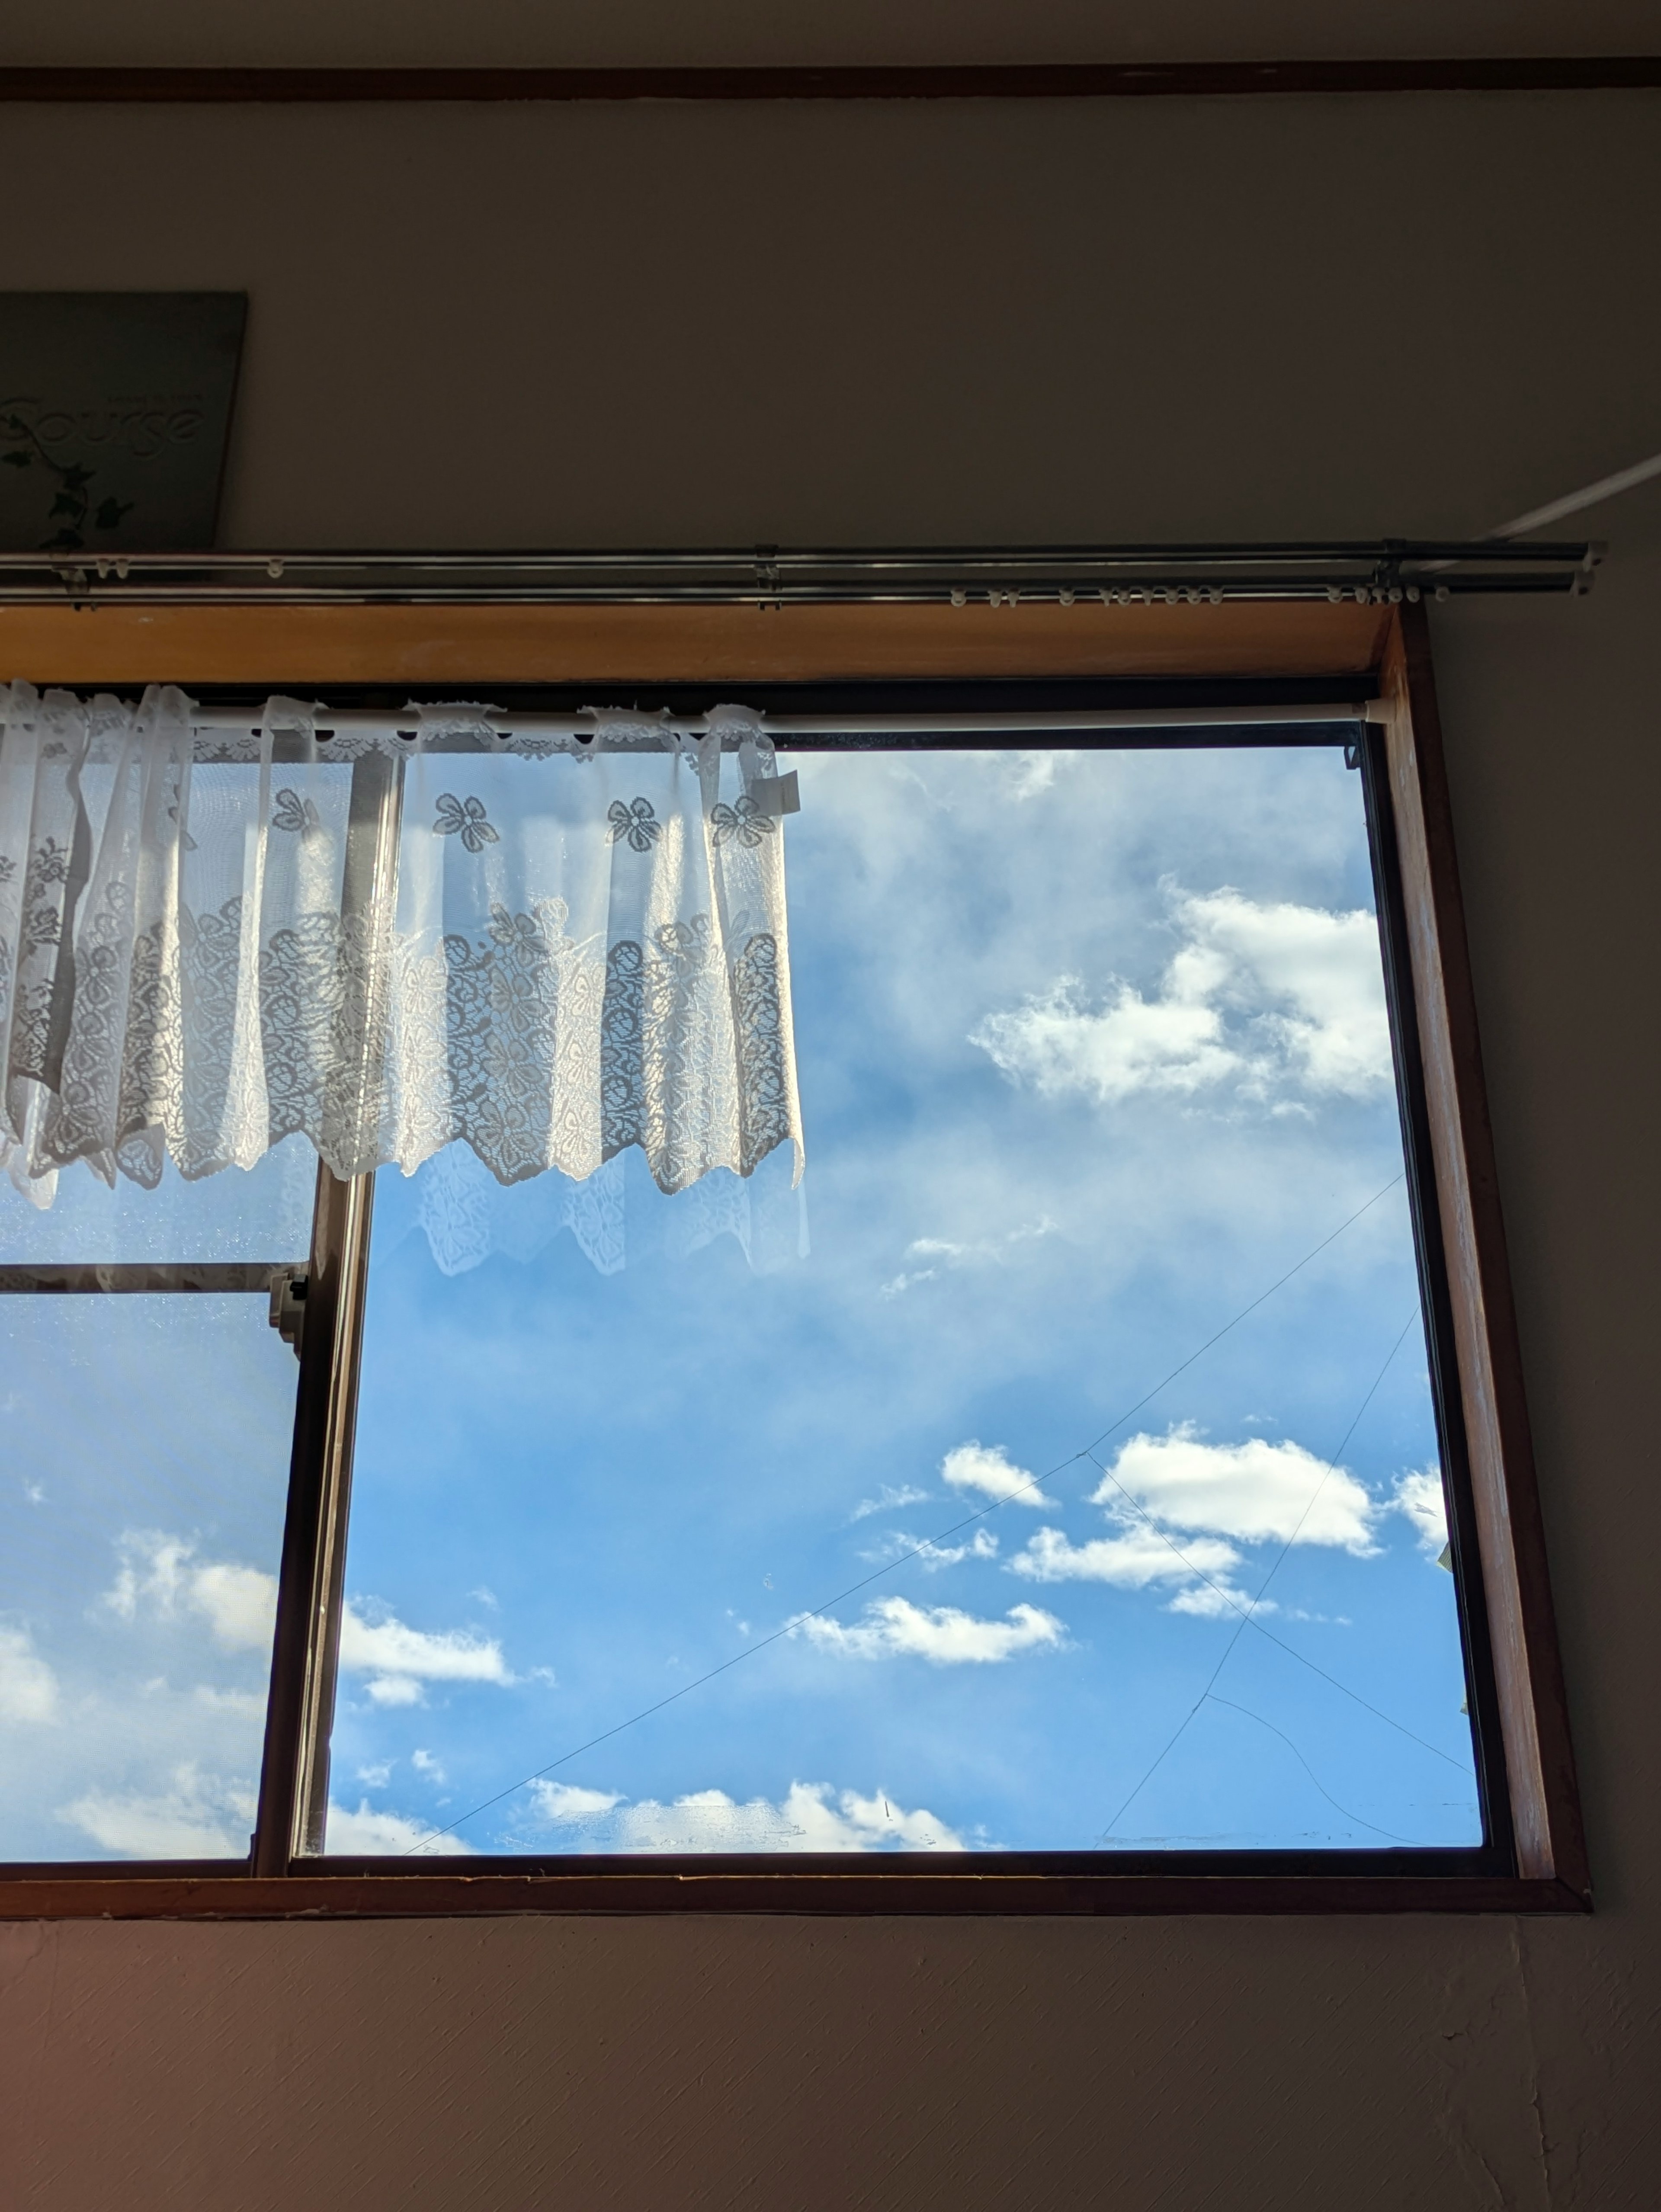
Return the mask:
POLYGON ((1391 1082, 1378 925, 1367 911, 1258 905, 1239 891, 1172 896, 1185 942, 1161 993, 1110 980, 1090 1004, 1062 975, 989 1013, 969 1042, 1017 1082, 1101 1104, 1135 1093, 1367 1097, 1391 1082))

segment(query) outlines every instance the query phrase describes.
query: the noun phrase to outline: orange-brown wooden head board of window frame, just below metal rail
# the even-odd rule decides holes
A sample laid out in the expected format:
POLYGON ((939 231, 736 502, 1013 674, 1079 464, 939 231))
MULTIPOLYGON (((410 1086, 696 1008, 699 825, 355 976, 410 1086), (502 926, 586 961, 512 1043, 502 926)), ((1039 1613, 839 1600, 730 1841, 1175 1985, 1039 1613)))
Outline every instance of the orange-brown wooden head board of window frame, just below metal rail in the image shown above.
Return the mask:
POLYGON ((1387 606, 0 606, 0 681, 792 684, 1362 677, 1387 606))

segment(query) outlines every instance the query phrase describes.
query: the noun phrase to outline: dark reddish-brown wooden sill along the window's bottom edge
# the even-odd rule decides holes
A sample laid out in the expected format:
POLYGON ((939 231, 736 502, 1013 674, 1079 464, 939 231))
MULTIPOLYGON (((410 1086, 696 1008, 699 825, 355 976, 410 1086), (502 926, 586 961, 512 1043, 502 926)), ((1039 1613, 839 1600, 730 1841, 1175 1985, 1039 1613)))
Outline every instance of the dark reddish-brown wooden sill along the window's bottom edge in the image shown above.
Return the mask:
POLYGON ((476 1913, 1577 1913, 1557 1880, 1495 1874, 294 1874, 0 1880, 0 1920, 405 1920, 476 1913))

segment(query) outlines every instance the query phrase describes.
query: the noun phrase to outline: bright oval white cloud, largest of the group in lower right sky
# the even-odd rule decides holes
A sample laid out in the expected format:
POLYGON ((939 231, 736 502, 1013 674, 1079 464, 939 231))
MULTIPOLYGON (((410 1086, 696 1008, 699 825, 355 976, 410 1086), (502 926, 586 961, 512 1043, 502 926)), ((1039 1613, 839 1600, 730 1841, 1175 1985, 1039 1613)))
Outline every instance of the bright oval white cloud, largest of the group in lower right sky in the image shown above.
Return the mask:
POLYGON ((1303 1444, 1208 1444, 1192 1422, 1168 1436, 1132 1436, 1093 1498, 1126 1513, 1130 1498, 1170 1522, 1243 1544, 1334 1544, 1371 1553, 1378 1506, 1345 1467, 1327 1467, 1303 1444))

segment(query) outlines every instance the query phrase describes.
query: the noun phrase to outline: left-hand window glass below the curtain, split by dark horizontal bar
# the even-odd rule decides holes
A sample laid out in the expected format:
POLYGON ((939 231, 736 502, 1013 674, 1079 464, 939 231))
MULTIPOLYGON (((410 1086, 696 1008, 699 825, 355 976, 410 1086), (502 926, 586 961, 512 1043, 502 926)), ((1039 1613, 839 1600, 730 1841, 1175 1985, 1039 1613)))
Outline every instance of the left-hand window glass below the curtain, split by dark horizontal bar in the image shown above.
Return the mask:
MULTIPOLYGON (((292 1263, 314 1179, 0 1183, 0 1263, 292 1263)), ((263 1292, 0 1296, 0 1858, 246 1856, 296 1378, 263 1292)))

